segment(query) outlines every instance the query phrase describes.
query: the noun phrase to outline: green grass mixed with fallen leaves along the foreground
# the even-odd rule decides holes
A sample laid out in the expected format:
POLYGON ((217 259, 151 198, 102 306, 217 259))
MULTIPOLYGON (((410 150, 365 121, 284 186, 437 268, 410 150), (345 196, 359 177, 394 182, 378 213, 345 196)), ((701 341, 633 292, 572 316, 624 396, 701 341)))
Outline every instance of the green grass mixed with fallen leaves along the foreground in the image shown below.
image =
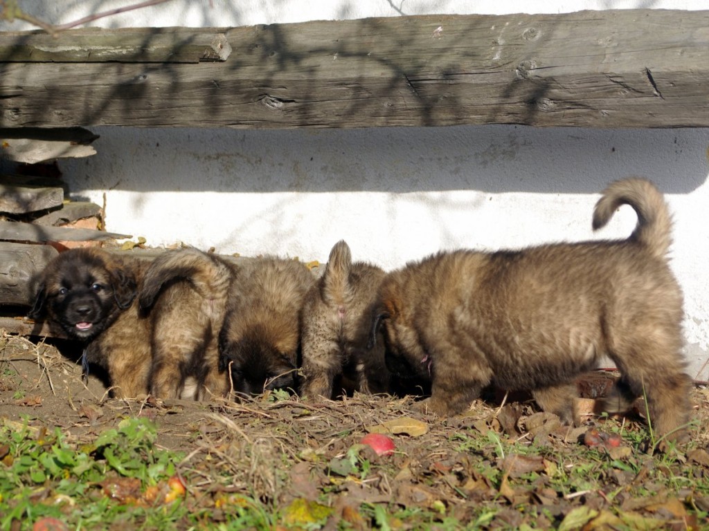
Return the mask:
MULTIPOLYGON (((608 421, 607 429, 621 430, 615 421, 608 421)), ((447 481, 453 491, 448 492, 456 503, 438 472, 418 473, 418 486, 433 493, 427 502, 406 505, 392 494, 389 501, 353 502, 355 513, 345 517, 335 514, 334 503, 338 496, 342 499, 345 486, 384 477, 395 484, 400 469, 392 459, 374 459, 357 444, 336 457, 316 459, 311 473, 322 481, 317 501, 295 498, 279 506, 276 499, 250 492, 248 484, 235 487, 236 469, 218 459, 216 447, 213 460, 205 455, 189 463, 182 453, 162 449, 155 424, 147 418, 124 418, 115 428, 82 440, 58 428, 5 421, 0 423, 0 529, 32 529, 42 518, 57 518, 77 530, 318 530, 333 515, 338 530, 574 530, 603 518, 618 529, 661 525, 662 520, 653 519, 653 509, 646 510, 642 503, 627 505, 629 499, 644 498, 647 507, 654 503, 666 506, 663 510, 674 508, 671 501, 676 498, 699 528, 708 525, 706 500, 700 507, 694 504, 709 496, 707 469, 688 467, 681 452, 643 452, 637 429, 621 431, 632 447, 624 455, 575 442, 537 445, 499 433, 458 430, 450 435, 448 455, 453 460, 445 465, 451 467, 447 481), (501 463, 513 455, 536 459, 545 467, 508 475, 501 463), (455 485, 456 473, 479 479, 481 490, 455 485), (186 494, 167 501, 169 481, 181 476, 186 494), (663 491, 669 493, 666 500, 654 501, 663 491), (588 499, 582 501, 582 496, 588 499)), ((252 451, 241 450, 246 455, 252 451)), ((282 487, 289 481, 289 459, 274 458, 282 487)))

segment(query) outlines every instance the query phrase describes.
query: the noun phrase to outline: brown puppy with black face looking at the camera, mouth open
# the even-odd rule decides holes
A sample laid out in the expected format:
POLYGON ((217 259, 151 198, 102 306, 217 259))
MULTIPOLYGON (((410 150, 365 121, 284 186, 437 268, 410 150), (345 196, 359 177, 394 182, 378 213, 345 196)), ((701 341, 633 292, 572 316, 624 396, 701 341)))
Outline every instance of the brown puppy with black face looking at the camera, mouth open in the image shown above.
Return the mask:
POLYGON ((133 302, 147 262, 101 249, 60 253, 35 279, 29 316, 84 343, 88 363, 106 368, 114 396, 147 394, 150 323, 133 302))

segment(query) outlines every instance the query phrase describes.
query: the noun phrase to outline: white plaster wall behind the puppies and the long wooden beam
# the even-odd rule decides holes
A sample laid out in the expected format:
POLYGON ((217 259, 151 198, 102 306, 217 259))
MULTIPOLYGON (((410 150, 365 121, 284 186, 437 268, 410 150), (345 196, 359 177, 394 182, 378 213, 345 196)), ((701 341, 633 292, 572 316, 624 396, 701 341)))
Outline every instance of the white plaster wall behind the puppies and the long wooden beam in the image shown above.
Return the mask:
MULTIPOLYGON (((54 23, 130 1, 23 1, 54 23)), ((94 25, 247 25, 423 13, 708 8, 705 0, 172 0, 94 25), (543 7, 542 7, 543 6, 543 7)), ((0 30, 26 29, 0 23, 0 30)), ((651 178, 674 211, 672 267, 686 297, 691 374, 709 378, 709 130, 518 126, 371 130, 95 127, 98 154, 61 161, 75 198, 103 201, 108 229, 242 255, 325 261, 338 239, 396 268, 438 249, 625 237, 630 209, 591 233, 611 180, 651 178)))

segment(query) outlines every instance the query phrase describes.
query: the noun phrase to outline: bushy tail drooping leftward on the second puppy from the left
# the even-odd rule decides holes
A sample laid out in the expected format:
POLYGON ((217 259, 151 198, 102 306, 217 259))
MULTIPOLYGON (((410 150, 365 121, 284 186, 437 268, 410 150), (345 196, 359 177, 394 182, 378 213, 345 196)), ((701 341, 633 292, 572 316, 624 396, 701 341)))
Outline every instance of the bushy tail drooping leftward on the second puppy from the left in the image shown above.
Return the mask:
POLYGON ((140 307, 155 304, 163 287, 172 282, 186 281, 206 299, 225 296, 233 277, 233 267, 213 254, 186 248, 167 251, 155 258, 143 278, 140 307))

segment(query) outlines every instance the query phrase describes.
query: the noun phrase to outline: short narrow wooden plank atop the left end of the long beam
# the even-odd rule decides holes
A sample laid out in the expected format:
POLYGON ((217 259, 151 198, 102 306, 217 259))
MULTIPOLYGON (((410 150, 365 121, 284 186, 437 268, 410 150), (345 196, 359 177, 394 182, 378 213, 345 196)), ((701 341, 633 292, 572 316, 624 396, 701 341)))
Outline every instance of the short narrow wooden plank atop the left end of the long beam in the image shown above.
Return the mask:
POLYGON ((57 37, 43 31, 0 32, 0 62, 224 61, 231 47, 220 28, 82 28, 57 37))

